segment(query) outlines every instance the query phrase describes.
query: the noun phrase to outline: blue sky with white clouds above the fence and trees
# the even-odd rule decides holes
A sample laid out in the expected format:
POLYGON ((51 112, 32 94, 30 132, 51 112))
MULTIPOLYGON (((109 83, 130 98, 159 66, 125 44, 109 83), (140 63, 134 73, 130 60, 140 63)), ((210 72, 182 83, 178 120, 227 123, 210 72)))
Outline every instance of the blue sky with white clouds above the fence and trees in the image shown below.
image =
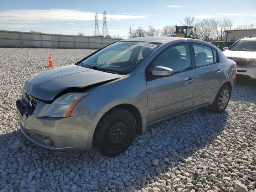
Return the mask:
POLYGON ((109 34, 120 37, 127 36, 130 26, 180 25, 186 15, 256 25, 256 0, 0 0, 0 29, 93 35, 94 15, 98 13, 101 33, 104 11, 109 34))

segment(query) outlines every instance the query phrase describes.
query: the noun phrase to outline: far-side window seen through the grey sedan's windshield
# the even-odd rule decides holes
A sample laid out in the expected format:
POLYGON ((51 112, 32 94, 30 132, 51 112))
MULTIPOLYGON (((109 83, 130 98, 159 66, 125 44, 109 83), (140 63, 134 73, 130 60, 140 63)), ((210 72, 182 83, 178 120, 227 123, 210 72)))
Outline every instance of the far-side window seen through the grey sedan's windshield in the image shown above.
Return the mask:
POLYGON ((125 62, 130 59, 132 51, 110 50, 98 57, 97 64, 125 62))

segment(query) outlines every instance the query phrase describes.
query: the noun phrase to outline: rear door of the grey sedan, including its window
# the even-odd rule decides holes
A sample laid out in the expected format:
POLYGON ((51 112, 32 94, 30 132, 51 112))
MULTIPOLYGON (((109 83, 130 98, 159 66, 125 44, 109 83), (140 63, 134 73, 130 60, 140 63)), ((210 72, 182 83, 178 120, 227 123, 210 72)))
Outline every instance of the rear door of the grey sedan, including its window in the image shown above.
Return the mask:
POLYGON ((194 105, 214 101, 224 75, 218 52, 210 46, 192 44, 196 63, 196 91, 194 105))

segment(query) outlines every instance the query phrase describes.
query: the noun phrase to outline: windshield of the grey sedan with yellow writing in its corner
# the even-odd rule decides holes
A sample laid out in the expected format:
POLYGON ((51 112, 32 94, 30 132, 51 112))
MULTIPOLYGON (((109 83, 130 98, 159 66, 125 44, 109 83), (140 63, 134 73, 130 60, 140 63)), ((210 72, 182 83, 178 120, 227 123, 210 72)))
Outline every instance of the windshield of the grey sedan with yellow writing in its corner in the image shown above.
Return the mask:
POLYGON ((160 43, 116 42, 83 60, 79 66, 126 75, 132 72, 160 43))

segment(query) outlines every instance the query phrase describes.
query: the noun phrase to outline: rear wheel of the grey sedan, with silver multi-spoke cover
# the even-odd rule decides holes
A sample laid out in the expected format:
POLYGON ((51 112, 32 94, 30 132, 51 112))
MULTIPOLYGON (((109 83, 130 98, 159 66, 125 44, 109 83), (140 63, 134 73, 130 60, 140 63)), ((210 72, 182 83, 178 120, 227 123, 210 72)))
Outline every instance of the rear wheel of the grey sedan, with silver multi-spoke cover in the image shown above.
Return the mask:
POLYGON ((212 112, 221 113, 224 110, 226 110, 230 96, 231 96, 230 88, 226 84, 222 85, 216 95, 214 102, 210 105, 210 109, 212 110, 212 112), (228 92, 228 96, 223 97, 225 92, 228 92), (222 98, 224 98, 224 99, 222 99, 222 98), (223 103, 219 104, 219 101, 220 102, 223 101, 223 103), (222 106, 222 104, 223 104, 223 106, 222 106))

